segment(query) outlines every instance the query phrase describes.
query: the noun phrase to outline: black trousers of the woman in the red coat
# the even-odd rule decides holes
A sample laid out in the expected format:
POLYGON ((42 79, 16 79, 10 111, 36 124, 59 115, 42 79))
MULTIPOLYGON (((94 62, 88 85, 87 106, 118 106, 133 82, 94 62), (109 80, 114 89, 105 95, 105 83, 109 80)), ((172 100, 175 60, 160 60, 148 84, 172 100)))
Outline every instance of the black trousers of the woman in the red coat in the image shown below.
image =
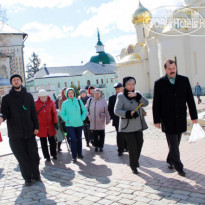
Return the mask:
POLYGON ((47 139, 49 141, 50 144, 50 154, 51 156, 56 156, 57 152, 56 152, 56 140, 55 137, 40 137, 40 141, 41 141, 41 148, 43 151, 43 156, 44 158, 50 158, 50 154, 48 152, 48 142, 47 139))

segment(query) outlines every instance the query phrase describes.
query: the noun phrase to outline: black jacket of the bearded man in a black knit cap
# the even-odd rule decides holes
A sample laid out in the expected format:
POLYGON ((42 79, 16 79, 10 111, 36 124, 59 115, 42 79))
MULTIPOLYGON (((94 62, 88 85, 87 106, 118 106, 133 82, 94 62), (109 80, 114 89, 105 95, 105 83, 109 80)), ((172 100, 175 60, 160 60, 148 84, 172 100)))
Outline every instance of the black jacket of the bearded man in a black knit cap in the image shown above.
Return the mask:
POLYGON ((13 88, 2 98, 1 113, 7 120, 10 139, 34 137, 34 130, 39 128, 33 96, 22 87, 20 92, 13 88))

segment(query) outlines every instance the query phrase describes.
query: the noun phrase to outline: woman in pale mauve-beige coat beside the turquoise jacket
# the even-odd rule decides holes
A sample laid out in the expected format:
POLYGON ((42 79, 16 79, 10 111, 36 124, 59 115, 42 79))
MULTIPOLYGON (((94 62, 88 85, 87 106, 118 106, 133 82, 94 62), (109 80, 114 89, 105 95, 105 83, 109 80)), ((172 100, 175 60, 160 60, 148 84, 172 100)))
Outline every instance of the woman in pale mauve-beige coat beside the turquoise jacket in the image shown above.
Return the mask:
POLYGON ((102 92, 96 88, 94 97, 87 101, 88 118, 90 120, 90 130, 93 132, 95 152, 103 152, 105 141, 105 124, 109 124, 110 115, 107 102, 102 98, 102 92))

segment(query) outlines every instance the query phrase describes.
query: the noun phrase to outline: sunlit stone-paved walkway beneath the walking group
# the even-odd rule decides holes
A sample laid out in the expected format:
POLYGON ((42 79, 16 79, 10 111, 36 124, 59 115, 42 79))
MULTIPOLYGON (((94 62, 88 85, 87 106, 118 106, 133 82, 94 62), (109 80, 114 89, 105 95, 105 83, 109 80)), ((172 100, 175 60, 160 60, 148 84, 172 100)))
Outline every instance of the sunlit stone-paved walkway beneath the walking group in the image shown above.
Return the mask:
MULTIPOLYGON (((203 107, 202 107, 203 108, 203 107)), ((13 155, 0 157, 0 204, 205 204, 205 140, 188 143, 183 135, 181 159, 186 177, 167 168, 164 134, 152 125, 144 132, 139 175, 128 166, 128 154, 117 156, 115 132, 107 127, 103 153, 87 148, 83 139, 83 160, 71 162, 62 145, 57 160, 46 162, 41 156, 43 183, 23 186, 13 155)), ((5 131, 5 130, 4 130, 5 131)), ((6 133, 6 131, 5 131, 6 133)), ((1 150, 0 150, 1 151, 1 150)))

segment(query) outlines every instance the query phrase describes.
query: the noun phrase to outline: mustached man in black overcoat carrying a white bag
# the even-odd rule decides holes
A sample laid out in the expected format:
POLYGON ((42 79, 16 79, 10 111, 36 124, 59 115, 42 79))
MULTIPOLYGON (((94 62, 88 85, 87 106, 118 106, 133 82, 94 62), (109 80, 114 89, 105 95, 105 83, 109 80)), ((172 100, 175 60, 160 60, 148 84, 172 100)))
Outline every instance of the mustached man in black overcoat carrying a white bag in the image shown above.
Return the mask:
POLYGON ((164 70, 166 75, 154 85, 153 119, 155 126, 166 134, 168 167, 185 176, 179 144, 182 133, 187 130, 187 105, 193 123, 198 122, 197 110, 189 79, 177 74, 176 62, 167 60, 164 70))

